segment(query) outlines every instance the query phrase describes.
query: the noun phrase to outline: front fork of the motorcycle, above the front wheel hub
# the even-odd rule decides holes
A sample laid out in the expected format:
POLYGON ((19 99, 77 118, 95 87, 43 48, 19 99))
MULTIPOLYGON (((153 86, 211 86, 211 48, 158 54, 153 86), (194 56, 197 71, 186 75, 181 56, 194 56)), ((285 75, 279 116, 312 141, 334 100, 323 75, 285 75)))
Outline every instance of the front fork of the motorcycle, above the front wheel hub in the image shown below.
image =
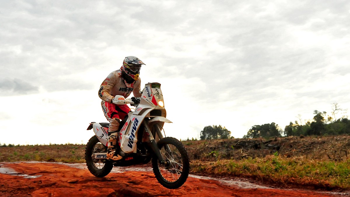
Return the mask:
MULTIPOLYGON (((143 123, 144 123, 144 126, 145 126, 145 131, 148 133, 148 136, 149 136, 149 142, 151 144, 151 148, 152 148, 153 152, 156 154, 159 163, 167 165, 168 161, 164 161, 164 158, 163 158, 162 154, 160 153, 159 147, 158 147, 156 141, 154 140, 154 137, 152 135, 151 129, 148 126, 148 123, 149 123, 148 120, 145 119, 143 121, 143 123)), ((161 132, 161 129, 159 128, 159 125, 155 124, 154 127, 156 129, 156 133, 157 133, 159 139, 163 139, 164 136, 163 136, 163 134, 161 132)), ((168 153, 170 153, 170 148, 169 148, 168 145, 165 145, 164 148, 167 150, 168 153)))

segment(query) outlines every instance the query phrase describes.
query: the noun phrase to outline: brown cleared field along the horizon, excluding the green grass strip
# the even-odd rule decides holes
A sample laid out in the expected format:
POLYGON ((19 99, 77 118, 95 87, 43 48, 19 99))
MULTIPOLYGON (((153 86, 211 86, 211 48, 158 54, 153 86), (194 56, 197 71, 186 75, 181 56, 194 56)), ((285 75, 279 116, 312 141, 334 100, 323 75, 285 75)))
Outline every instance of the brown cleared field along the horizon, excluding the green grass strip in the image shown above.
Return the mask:
MULTIPOLYGON (((182 141, 190 160, 240 160, 264 157, 278 151, 286 157, 305 157, 323 161, 350 159, 350 136, 292 136, 276 139, 223 139, 182 141)), ((85 145, 28 145, 0 147, 3 161, 53 161, 83 163, 85 145)))

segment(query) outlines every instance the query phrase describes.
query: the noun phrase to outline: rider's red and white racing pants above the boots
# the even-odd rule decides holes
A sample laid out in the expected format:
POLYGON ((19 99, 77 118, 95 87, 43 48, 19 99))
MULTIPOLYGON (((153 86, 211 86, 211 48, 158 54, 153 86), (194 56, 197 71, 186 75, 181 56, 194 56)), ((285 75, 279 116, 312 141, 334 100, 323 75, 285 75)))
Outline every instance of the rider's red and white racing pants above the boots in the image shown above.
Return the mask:
POLYGON ((119 129, 120 119, 123 120, 125 116, 130 112, 130 108, 127 105, 116 105, 114 103, 101 102, 103 113, 110 122, 108 132, 116 132, 119 129))

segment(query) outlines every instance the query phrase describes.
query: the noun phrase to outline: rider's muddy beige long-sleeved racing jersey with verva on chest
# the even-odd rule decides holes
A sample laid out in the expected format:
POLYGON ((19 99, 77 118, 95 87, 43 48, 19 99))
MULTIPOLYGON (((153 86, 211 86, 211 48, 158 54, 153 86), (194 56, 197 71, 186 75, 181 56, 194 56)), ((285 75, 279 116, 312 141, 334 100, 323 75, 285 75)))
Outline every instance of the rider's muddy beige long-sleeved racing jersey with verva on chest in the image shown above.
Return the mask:
POLYGON ((124 96, 127 98, 131 92, 134 97, 141 97, 141 79, 134 81, 132 84, 125 84, 123 77, 121 77, 121 71, 116 70, 111 72, 107 78, 102 82, 100 89, 98 90, 98 96, 108 102, 112 103, 112 99, 116 95, 124 96))

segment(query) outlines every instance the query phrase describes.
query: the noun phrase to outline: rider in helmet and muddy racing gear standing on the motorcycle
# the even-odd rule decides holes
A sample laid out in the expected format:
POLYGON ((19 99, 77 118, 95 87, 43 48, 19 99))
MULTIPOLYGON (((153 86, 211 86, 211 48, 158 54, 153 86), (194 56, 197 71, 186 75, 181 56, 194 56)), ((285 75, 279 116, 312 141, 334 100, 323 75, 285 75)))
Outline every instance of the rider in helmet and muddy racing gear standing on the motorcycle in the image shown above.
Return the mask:
POLYGON ((98 96, 102 99, 102 110, 110 122, 107 159, 120 160, 123 158, 118 154, 120 148, 117 145, 118 130, 120 119, 123 120, 127 113, 130 112, 130 108, 127 105, 116 105, 112 101, 113 99, 123 99, 118 97, 118 95, 127 98, 131 92, 133 92, 134 97, 141 97, 141 79, 139 74, 142 64, 144 63, 135 56, 125 57, 120 70, 111 72, 102 82, 98 91, 98 96))

